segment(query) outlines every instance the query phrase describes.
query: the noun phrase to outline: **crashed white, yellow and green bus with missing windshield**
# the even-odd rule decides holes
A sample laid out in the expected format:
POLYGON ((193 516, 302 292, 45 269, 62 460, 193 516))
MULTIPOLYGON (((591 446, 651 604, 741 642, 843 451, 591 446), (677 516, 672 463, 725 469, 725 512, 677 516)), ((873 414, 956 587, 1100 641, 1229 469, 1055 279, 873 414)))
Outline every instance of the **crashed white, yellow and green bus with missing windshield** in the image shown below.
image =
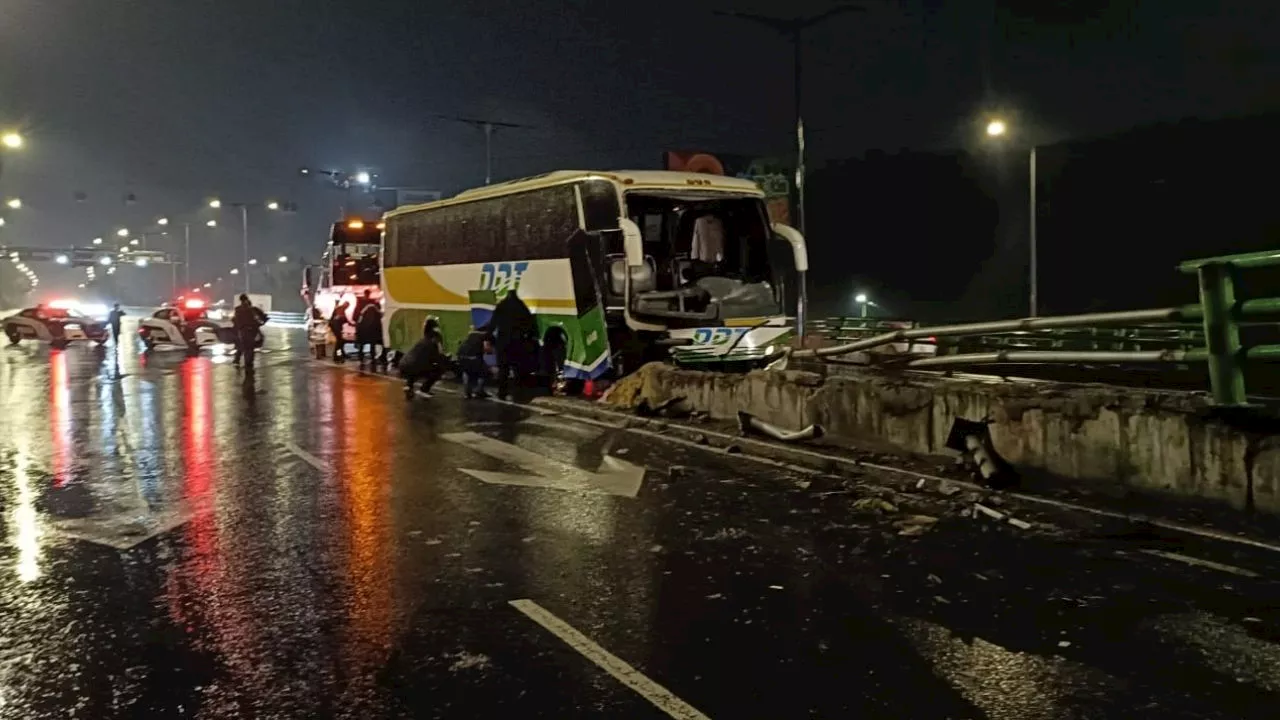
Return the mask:
POLYGON ((794 333, 781 273, 796 275, 804 320, 804 238, 771 227, 764 193, 745 179, 562 170, 384 222, 385 329, 402 352, 429 315, 452 352, 509 292, 538 320, 544 368, 566 379, 622 374, 666 352, 681 364, 759 363, 794 333))

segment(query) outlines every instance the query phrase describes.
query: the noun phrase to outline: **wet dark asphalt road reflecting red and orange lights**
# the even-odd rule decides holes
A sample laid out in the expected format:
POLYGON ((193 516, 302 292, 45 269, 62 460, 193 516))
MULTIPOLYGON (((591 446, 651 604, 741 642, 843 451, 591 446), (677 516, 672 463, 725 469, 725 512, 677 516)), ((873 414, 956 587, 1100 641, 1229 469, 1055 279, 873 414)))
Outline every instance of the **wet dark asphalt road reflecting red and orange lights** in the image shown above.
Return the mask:
POLYGON ((0 717, 1280 716, 1265 553, 904 537, 874 478, 406 402, 301 342, 251 384, 0 351, 0 717))

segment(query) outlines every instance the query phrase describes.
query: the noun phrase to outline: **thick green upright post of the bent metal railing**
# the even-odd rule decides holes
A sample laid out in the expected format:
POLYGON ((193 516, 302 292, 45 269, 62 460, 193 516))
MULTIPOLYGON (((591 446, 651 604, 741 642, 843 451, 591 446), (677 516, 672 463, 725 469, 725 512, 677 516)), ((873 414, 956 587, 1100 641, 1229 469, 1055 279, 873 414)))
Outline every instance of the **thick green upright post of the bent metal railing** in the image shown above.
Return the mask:
POLYGON ((1210 387, 1217 405, 1244 405, 1244 368, 1240 364, 1240 328, 1235 320, 1235 270, 1228 263, 1199 266, 1204 345, 1208 350, 1210 387))

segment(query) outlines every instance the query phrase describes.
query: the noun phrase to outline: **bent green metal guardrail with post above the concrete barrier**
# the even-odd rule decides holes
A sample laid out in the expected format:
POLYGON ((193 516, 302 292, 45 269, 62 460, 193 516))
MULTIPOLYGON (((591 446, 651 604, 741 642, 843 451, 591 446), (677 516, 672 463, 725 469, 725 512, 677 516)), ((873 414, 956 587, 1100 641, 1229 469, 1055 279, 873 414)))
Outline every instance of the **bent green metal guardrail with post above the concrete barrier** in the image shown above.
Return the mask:
MULTIPOLYGON (((901 320, 829 318, 810 325, 833 346, 787 352, 791 359, 838 357, 890 345, 927 341, 933 356, 908 354, 908 368, 991 364, 1158 364, 1207 363, 1213 402, 1247 404, 1244 363, 1280 360, 1280 345, 1244 347, 1249 320, 1280 319, 1280 299, 1236 299, 1239 273, 1280 266, 1280 251, 1188 260, 1179 272, 1199 282, 1199 302, 1175 307, 1020 318, 986 323, 919 327, 901 320), (996 348, 973 352, 973 350, 996 348)), ((910 347, 910 346, 909 346, 910 347)))

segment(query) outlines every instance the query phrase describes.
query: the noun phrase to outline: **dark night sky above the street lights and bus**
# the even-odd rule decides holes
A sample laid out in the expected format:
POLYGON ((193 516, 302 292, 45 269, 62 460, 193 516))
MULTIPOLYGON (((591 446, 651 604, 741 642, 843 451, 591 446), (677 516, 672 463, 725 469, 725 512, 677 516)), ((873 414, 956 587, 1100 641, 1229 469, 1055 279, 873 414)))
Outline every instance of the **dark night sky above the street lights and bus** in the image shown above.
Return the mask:
MULTIPOLYGON (((657 167, 666 147, 786 154, 790 47, 713 12, 832 4, 4 0, 0 122, 28 147, 0 178, 27 208, 0 232, 69 245, 186 217, 201 223, 196 274, 212 279, 238 261, 239 223, 224 210, 206 232, 204 200, 271 197, 300 211, 255 211, 255 254, 315 258, 344 195, 301 179, 301 165, 371 168, 384 184, 447 193, 483 182, 480 131, 433 114, 531 126, 497 136, 498 179, 657 167)), ((1044 142, 1247 114, 1275 108, 1280 91, 1274 0, 863 6, 806 36, 813 165, 964 146, 992 108, 1044 142)))

